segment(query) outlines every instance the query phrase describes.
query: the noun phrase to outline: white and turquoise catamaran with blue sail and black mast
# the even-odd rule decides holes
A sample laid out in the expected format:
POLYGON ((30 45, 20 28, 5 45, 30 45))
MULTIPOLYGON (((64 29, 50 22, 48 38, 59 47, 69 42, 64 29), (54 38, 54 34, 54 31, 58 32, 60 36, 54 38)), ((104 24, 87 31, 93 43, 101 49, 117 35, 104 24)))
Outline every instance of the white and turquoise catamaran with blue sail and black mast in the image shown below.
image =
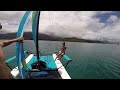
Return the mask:
POLYGON ((66 54, 62 58, 66 60, 63 65, 56 53, 41 54, 38 43, 40 11, 26 11, 21 19, 17 38, 24 35, 24 26, 28 16, 32 13, 32 36, 36 53, 29 53, 24 50, 23 43, 16 42, 16 56, 6 60, 6 64, 16 60, 17 66, 11 70, 15 79, 71 79, 66 71, 66 66, 72 59, 66 54), (25 54, 28 57, 25 58, 25 54), (56 60, 55 60, 56 59, 56 60))

